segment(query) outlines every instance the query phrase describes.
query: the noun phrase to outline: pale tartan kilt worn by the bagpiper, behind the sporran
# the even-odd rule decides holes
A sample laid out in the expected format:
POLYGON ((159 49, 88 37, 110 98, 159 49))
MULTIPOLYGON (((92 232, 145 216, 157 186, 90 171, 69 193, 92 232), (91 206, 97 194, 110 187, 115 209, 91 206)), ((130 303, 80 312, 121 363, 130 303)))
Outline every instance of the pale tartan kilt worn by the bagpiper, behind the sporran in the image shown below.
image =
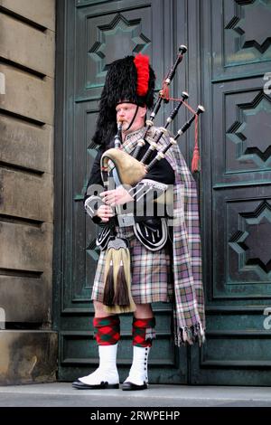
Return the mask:
MULTIPOLYGON (((132 296, 135 304, 173 301, 173 272, 168 244, 151 251, 136 239, 133 227, 116 228, 117 236, 129 242, 132 296)), ((92 289, 92 300, 103 300, 106 250, 100 252, 92 289)))

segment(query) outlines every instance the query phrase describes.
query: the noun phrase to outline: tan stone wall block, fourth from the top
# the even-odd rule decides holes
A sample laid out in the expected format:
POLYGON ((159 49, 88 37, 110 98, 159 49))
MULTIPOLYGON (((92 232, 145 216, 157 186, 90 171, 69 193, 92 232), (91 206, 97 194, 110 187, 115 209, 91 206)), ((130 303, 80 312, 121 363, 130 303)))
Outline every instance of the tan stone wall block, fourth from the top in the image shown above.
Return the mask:
POLYGON ((0 161, 52 173, 53 127, 0 115, 0 161))

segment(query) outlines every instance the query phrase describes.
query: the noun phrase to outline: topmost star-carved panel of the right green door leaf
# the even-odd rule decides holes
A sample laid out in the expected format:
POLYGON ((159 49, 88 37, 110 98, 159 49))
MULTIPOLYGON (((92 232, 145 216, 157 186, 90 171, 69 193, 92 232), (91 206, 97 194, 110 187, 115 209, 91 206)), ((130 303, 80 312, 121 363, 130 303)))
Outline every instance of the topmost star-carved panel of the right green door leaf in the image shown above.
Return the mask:
POLYGON ((270 71, 270 2, 210 0, 210 17, 212 78, 270 71))

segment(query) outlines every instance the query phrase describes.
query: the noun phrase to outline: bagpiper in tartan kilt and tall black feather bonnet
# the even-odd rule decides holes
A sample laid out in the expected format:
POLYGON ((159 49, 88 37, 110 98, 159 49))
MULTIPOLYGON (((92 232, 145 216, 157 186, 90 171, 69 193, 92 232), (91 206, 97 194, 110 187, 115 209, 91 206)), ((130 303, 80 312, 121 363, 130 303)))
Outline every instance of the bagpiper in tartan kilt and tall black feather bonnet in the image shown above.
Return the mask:
MULTIPOLYGON (((124 391, 148 386, 153 303, 173 304, 176 345, 204 341, 197 189, 176 143, 187 123, 176 137, 166 128, 171 120, 154 127, 162 101, 160 97, 154 105, 154 82, 149 58, 139 53, 110 65, 101 94, 93 137, 98 153, 84 199, 101 229, 91 297, 99 365, 72 383, 77 389, 119 388, 120 314, 134 313, 133 362, 124 391), (153 111, 150 119, 148 109, 153 111)), ((179 107, 184 99, 186 94, 179 107)))

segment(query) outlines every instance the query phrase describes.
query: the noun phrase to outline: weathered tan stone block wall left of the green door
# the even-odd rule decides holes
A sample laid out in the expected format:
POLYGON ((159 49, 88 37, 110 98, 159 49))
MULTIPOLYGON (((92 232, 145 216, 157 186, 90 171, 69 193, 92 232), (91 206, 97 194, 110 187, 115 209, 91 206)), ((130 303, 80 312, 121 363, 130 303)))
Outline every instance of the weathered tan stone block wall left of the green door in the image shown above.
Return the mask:
POLYGON ((55 0, 0 0, 0 384, 55 379, 55 0))

